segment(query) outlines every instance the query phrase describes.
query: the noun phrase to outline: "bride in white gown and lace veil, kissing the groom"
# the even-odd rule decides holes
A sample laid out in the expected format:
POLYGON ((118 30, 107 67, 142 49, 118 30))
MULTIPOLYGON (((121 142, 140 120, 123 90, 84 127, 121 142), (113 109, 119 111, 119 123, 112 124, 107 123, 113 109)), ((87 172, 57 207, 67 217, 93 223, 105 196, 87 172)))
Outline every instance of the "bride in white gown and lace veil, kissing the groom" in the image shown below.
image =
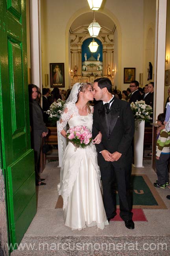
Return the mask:
MULTIPOLYGON (((75 83, 61 114, 58 130, 66 137, 64 127, 87 126, 92 131, 93 100, 91 83, 75 83)), ((101 142, 101 134, 93 140, 101 142)), ((100 169, 93 144, 75 148, 68 142, 61 166, 59 195, 63 197, 65 225, 81 230, 86 226, 105 228, 108 225, 101 193, 100 169)))

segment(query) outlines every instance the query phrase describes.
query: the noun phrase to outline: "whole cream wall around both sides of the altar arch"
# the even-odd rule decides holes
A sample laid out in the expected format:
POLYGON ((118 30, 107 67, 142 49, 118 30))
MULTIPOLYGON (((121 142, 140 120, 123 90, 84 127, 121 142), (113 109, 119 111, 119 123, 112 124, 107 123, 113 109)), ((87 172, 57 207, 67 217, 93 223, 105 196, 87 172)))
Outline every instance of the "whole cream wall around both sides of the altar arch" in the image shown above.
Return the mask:
MULTIPOLYGON (((50 74, 50 62, 66 62, 65 30, 68 20, 80 8, 89 8, 89 5, 87 1, 78 0, 64 0, 59 4, 56 0, 41 0, 42 5, 44 9, 43 16, 41 15, 44 22, 44 26, 41 27, 42 33, 44 33, 42 49, 45 49, 42 70, 44 74, 50 74)), ((135 67, 137 80, 139 80, 139 73, 143 71, 143 0, 129 0, 128 2, 126 0, 107 0, 104 9, 113 13, 120 22, 122 52, 121 56, 118 56, 121 58, 121 70, 118 70, 118 76, 121 78, 118 81, 121 81, 121 89, 126 89, 127 84, 123 85, 123 68, 135 67)), ((43 84, 44 74, 42 74, 43 84)), ((65 76, 69 77, 68 70, 65 70, 65 76)), ((66 84, 66 88, 68 86, 69 84, 66 84)), ((117 87, 120 85, 117 84, 117 87)))

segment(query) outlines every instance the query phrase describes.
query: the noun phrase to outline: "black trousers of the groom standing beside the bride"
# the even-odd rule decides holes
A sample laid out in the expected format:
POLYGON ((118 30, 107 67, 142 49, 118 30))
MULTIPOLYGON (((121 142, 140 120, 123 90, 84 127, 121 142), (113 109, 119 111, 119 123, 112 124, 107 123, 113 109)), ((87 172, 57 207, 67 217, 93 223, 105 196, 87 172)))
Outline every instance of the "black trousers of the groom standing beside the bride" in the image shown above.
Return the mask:
POLYGON ((103 187, 103 202, 107 218, 113 218, 116 215, 116 195, 114 189, 114 184, 116 183, 120 201, 120 217, 124 221, 131 220, 131 163, 127 163, 123 159, 108 162, 107 166, 100 166, 100 172, 103 187))

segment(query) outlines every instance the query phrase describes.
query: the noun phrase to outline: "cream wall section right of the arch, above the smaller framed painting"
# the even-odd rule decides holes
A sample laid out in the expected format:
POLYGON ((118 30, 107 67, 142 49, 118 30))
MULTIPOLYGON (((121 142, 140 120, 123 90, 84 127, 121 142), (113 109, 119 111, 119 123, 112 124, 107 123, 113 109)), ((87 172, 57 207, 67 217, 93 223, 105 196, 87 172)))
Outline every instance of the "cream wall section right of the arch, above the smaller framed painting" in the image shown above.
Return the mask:
POLYGON ((106 4, 116 15, 122 30, 121 85, 117 84, 117 88, 125 90, 128 84, 124 84, 124 67, 135 67, 138 81, 139 73, 142 72, 143 1, 115 0, 106 1, 106 4))

